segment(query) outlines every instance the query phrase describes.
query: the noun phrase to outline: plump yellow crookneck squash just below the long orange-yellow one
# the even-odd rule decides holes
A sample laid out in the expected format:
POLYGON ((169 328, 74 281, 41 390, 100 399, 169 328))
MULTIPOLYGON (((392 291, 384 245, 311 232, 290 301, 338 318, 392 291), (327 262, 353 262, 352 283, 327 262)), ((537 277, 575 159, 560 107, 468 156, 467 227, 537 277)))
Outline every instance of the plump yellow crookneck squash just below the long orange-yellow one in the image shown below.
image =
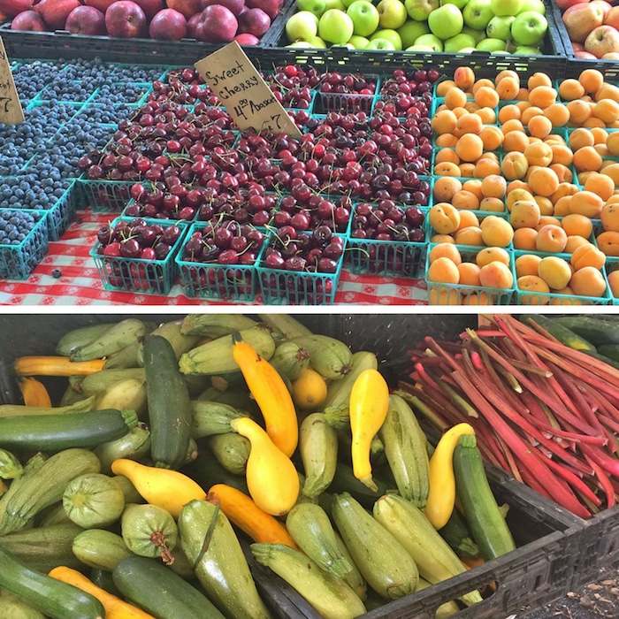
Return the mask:
POLYGON ((239 417, 230 425, 251 443, 245 470, 251 498, 267 514, 284 516, 299 497, 299 474, 293 462, 253 419, 239 417))

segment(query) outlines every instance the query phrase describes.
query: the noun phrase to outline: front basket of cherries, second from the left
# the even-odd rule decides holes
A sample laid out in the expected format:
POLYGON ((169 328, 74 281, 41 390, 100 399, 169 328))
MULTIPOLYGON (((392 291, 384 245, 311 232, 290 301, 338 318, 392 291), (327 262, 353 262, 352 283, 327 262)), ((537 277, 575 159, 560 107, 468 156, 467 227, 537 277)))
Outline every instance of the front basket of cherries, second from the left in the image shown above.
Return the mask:
POLYGON ((195 222, 175 257, 185 294, 226 302, 252 302, 264 228, 234 220, 195 222))

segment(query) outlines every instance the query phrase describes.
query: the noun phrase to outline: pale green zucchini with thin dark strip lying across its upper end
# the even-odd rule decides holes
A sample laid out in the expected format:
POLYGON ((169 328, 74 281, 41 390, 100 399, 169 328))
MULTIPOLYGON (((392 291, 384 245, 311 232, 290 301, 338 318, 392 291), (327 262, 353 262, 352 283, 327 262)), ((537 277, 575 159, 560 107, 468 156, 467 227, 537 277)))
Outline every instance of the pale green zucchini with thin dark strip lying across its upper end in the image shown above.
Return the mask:
POLYGON ((233 526, 217 506, 210 501, 189 501, 180 511, 179 531, 180 546, 194 565, 195 576, 229 619, 271 618, 233 526), (209 531, 210 541, 204 549, 209 531))

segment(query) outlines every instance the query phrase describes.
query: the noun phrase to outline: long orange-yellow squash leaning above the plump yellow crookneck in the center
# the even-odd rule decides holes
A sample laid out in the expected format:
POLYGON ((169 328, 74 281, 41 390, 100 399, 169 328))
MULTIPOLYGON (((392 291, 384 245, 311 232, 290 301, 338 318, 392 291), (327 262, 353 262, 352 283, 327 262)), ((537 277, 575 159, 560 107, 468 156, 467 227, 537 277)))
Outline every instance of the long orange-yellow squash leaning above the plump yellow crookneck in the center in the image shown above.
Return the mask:
POLYGON ((233 358, 264 417, 266 433, 290 457, 299 440, 299 422, 286 383, 247 342, 234 340, 233 358))

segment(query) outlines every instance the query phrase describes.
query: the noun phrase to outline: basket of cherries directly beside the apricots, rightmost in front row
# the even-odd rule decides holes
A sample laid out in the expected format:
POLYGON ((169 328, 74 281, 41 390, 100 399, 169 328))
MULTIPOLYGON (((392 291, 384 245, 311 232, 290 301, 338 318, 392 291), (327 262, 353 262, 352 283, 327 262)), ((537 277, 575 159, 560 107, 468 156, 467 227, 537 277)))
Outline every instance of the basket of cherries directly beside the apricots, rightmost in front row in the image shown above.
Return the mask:
POLYGON ((355 204, 348 236, 350 270, 386 277, 421 277, 427 247, 426 211, 393 200, 355 204))

